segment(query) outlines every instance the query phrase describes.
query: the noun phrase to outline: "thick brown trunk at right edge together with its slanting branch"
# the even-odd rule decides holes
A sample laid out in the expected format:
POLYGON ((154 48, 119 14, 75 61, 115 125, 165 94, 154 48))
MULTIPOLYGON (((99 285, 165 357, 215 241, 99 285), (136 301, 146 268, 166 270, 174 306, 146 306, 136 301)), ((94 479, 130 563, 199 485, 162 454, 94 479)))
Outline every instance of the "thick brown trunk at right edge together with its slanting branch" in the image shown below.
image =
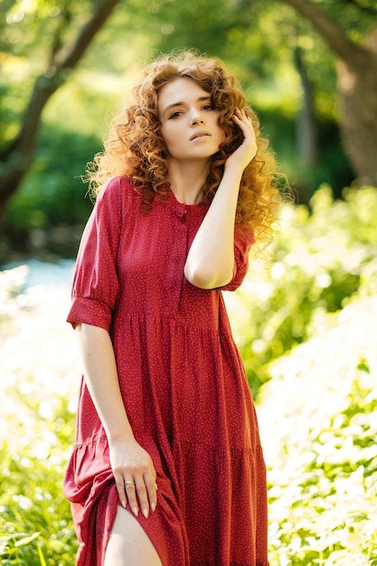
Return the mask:
POLYGON ((283 0, 320 33, 338 57, 340 128, 359 182, 377 186, 377 33, 363 46, 309 0, 283 0))

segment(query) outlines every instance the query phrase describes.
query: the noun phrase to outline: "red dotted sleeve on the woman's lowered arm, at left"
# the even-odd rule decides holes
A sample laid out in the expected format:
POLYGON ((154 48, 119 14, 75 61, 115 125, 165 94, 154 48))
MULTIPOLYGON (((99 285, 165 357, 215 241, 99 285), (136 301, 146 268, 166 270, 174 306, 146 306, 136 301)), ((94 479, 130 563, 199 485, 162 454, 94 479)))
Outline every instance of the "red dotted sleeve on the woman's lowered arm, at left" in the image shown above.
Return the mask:
POLYGON ((112 179, 99 194, 83 231, 73 276, 67 321, 108 330, 118 298, 117 256, 122 225, 121 181, 112 179))

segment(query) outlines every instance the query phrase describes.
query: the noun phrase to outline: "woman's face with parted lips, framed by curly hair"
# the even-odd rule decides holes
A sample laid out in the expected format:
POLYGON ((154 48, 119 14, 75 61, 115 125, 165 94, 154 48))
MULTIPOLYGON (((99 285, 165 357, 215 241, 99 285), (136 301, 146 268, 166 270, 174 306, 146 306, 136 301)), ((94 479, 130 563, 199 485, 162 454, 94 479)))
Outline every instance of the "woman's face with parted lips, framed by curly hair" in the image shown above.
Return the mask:
POLYGON ((158 92, 161 133, 168 159, 207 161, 225 138, 210 94, 192 79, 175 79, 158 92))

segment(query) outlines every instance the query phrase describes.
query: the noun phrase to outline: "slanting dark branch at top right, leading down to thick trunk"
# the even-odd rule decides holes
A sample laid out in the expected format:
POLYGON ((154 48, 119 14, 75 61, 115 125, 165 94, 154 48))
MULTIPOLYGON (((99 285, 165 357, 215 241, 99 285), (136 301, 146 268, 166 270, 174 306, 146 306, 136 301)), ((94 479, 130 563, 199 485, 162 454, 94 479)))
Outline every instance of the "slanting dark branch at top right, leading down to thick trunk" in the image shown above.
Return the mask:
POLYGON ((322 35, 327 45, 342 59, 351 64, 357 64, 364 59, 365 50, 353 43, 344 31, 321 8, 310 0, 281 0, 294 7, 299 14, 310 22, 322 35))

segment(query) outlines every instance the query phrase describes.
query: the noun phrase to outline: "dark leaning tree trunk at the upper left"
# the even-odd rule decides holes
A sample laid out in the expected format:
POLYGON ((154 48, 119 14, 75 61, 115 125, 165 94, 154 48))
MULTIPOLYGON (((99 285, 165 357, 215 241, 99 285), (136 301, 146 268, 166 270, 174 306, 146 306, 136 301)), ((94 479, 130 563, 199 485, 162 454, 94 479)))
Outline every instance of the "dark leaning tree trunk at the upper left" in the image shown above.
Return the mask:
POLYGON ((20 187, 33 163, 43 108, 52 94, 68 79, 118 2, 119 0, 101 0, 70 46, 64 46, 64 49, 57 53, 52 48, 53 56, 48 69, 35 80, 19 133, 0 154, 0 226, 6 204, 20 187))

